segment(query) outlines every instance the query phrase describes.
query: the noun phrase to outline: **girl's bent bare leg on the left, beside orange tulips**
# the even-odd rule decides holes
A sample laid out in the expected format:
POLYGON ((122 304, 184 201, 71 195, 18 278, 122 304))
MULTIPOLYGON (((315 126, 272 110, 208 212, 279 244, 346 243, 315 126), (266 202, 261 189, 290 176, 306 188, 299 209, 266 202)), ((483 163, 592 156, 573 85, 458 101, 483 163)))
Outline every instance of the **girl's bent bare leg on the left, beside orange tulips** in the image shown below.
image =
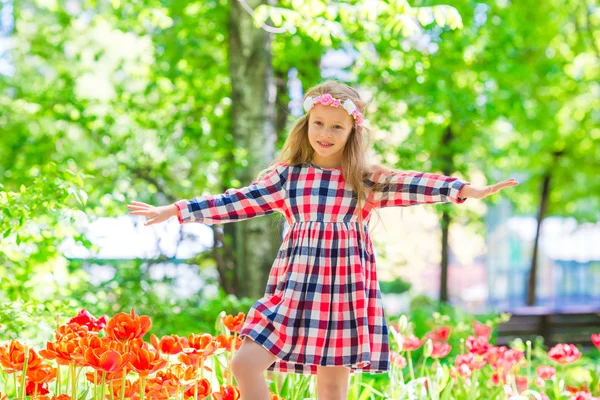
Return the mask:
POLYGON ((264 372, 277 358, 245 337, 231 361, 231 372, 240 388, 240 400, 269 400, 264 372))

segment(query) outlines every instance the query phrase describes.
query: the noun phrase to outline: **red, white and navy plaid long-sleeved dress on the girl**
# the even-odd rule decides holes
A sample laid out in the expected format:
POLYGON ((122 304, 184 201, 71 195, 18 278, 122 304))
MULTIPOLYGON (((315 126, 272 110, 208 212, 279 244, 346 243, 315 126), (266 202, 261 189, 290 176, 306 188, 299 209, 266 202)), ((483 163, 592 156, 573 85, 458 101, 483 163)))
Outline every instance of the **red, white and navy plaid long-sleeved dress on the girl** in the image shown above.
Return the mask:
POLYGON ((290 229, 269 273, 265 295, 246 316, 248 336, 277 357, 268 370, 316 374, 317 366, 350 373, 389 370, 386 325, 373 246, 367 230, 374 208, 463 203, 469 184, 424 172, 372 173, 366 184, 391 182, 363 205, 340 168, 279 163, 250 186, 176 203, 180 223, 228 223, 282 213, 290 229), (384 194, 387 195, 385 198, 384 194), (362 230, 363 240, 359 236, 362 230))

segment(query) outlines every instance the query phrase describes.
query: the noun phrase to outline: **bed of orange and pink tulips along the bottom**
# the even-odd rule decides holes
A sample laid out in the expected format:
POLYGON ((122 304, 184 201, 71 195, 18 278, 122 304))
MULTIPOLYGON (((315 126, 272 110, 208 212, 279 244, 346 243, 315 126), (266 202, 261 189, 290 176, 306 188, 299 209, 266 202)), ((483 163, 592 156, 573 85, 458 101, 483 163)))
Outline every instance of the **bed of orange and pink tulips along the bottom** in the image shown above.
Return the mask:
MULTIPOLYGON (((18 340, 0 344, 0 400, 239 400, 230 365, 244 318, 222 312, 216 336, 151 334, 146 342, 148 316, 132 309, 96 319, 81 310, 66 324, 57 323, 55 340, 45 349, 18 340)), ((492 327, 475 321, 452 358, 450 326, 436 326, 418 338, 401 316, 389 328, 389 379, 378 374, 385 379, 366 383, 364 374, 355 374, 349 398, 592 400, 600 391, 600 366, 570 344, 547 352, 532 351, 530 342, 524 348, 522 343, 494 346, 492 327)), ((591 341, 600 350, 600 334, 591 341)), ((316 398, 314 376, 266 374, 271 400, 316 398)))

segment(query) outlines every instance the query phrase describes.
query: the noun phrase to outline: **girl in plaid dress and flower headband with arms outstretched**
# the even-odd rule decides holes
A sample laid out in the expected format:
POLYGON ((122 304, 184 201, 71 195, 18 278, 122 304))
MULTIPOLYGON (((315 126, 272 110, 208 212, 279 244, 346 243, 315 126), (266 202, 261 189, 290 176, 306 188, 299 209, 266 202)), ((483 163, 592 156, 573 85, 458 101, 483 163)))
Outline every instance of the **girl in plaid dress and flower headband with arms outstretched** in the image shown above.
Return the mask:
MULTIPOLYGON (((247 314, 232 369, 243 400, 269 400, 264 371, 316 374, 319 400, 346 399, 354 372, 389 370, 388 329, 368 232, 378 208, 484 198, 518 182, 476 187, 456 177, 369 165, 365 103, 326 81, 307 91, 264 177, 224 194, 153 207, 132 202, 145 225, 177 216, 216 224, 279 212, 290 229, 264 297, 247 314)), ((263 171, 264 172, 264 171, 263 171)), ((260 175, 259 175, 260 176, 260 175)))

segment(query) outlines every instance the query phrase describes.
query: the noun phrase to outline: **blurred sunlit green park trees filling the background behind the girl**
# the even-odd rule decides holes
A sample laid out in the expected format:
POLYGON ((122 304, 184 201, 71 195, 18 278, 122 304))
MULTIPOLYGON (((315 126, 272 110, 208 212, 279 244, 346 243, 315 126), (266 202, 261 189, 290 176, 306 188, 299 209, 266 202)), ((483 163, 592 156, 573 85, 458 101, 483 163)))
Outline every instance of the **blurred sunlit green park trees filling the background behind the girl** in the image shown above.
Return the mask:
POLYGON ((600 312, 595 0, 0 1, 2 337, 81 308, 159 336, 247 313, 284 219, 144 227, 126 204, 250 184, 324 79, 369 103, 373 161, 520 182, 373 216, 388 317, 600 312))

